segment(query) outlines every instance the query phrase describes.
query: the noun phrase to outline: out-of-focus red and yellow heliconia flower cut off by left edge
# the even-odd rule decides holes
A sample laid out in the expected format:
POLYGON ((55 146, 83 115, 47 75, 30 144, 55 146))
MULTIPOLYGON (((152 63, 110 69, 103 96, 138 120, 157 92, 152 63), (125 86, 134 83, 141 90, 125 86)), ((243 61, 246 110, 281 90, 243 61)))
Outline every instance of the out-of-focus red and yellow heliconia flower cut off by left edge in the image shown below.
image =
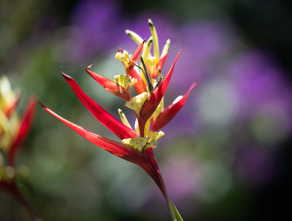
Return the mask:
POLYGON ((0 78, 0 187, 13 194, 25 206, 33 220, 38 220, 36 213, 18 190, 15 182, 17 176, 26 177, 29 170, 25 165, 21 165, 16 170, 14 165, 16 154, 34 120, 36 97, 29 97, 20 120, 15 111, 19 99, 19 91, 11 89, 7 77, 0 78))

